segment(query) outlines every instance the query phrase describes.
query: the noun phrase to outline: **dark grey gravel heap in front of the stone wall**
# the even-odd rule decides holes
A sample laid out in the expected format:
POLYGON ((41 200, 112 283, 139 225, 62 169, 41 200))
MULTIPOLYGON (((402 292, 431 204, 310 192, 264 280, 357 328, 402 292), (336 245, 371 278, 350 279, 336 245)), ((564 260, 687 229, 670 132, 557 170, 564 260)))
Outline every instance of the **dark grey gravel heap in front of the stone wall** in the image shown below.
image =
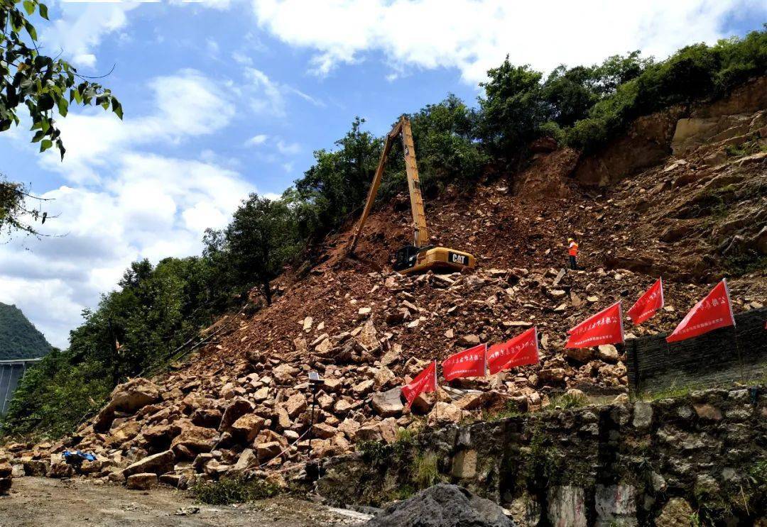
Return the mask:
POLYGON ((514 522, 489 499, 456 485, 431 486, 395 503, 365 525, 368 527, 514 527, 514 522))

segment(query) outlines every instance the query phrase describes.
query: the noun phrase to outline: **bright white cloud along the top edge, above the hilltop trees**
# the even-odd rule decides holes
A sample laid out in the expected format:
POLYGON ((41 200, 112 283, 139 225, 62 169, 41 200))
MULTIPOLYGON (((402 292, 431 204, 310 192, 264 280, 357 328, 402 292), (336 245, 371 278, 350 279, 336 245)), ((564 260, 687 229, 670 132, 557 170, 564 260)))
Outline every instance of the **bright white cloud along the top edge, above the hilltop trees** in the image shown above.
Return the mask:
POLYGON ((317 52, 311 59, 315 74, 383 51, 394 65, 456 67, 469 83, 484 80, 506 54, 514 64, 540 70, 635 49, 666 57, 691 42, 726 36, 721 28, 728 15, 767 15, 762 0, 252 2, 261 28, 317 52))

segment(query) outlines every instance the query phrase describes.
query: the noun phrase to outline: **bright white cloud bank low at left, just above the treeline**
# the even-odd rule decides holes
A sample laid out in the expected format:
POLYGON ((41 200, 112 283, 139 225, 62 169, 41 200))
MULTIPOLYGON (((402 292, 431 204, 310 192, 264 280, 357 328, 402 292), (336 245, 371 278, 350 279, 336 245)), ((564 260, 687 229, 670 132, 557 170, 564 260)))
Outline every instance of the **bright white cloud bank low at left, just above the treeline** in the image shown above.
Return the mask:
POLYGON ((203 231, 225 227, 255 190, 229 169, 146 152, 120 156, 114 169, 100 188, 44 194, 58 214, 43 228, 51 237, 0 245, 0 302, 18 306, 59 347, 131 261, 199 254, 203 231))

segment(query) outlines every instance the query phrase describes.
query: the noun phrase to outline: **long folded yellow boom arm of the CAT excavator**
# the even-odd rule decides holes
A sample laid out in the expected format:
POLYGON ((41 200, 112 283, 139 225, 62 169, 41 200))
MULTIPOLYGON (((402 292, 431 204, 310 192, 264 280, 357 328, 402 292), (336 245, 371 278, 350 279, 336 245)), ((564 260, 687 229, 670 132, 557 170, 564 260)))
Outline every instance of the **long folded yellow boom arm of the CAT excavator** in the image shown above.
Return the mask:
POLYGON ((357 228, 354 229, 354 237, 351 239, 347 254, 353 253, 354 247, 357 247, 357 241, 360 238, 360 234, 362 234, 362 228, 365 221, 367 221, 370 210, 373 208, 373 203, 381 184, 381 178, 384 177, 384 167, 391 152, 391 147, 394 140, 400 135, 402 136, 402 147, 405 152, 405 171, 407 172, 407 187, 410 190, 410 209, 413 212, 413 230, 415 231, 413 244, 416 247, 423 247, 429 243, 429 228, 426 227, 426 213, 423 210, 423 197, 421 196, 421 188, 418 181, 418 165, 416 164, 416 149, 413 146, 413 132, 410 129, 410 119, 407 119, 406 116, 401 116, 400 120, 397 121, 397 124, 394 125, 386 137, 384 151, 381 152, 373 183, 370 185, 370 191, 367 192, 365 209, 362 211, 362 217, 357 223, 357 228))

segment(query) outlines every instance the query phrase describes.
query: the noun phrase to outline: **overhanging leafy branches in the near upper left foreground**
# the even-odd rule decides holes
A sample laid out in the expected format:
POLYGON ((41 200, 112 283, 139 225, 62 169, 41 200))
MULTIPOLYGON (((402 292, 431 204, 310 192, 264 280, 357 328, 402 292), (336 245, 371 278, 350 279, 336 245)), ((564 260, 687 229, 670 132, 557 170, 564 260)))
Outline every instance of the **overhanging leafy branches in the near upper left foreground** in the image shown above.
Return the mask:
MULTIPOLYGON (((123 107, 111 90, 78 74, 67 61, 40 53, 37 31, 28 20, 35 13, 48 19, 48 7, 38 0, 0 0, 0 132, 18 126, 24 108, 31 120, 31 141, 40 143, 40 152, 56 146, 64 159, 57 114, 67 116, 74 102, 102 106, 122 119, 123 107)), ((21 220, 27 197, 21 185, 0 181, 0 229, 35 234, 21 220)), ((32 213, 30 218, 41 216, 32 213)))

